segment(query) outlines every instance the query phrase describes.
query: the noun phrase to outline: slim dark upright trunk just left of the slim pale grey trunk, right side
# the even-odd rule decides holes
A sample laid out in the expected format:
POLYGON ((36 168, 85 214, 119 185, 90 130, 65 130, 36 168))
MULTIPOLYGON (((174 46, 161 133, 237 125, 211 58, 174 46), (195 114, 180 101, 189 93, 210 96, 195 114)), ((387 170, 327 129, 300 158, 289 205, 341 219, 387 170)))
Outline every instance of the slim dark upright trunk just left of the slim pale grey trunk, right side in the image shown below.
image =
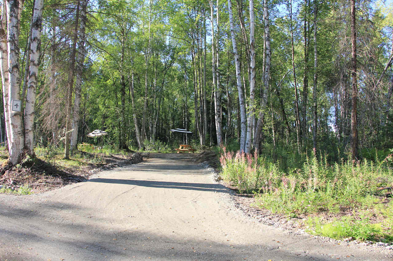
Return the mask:
POLYGON ((304 0, 305 11, 304 11, 304 71, 303 71, 303 146, 307 144, 307 95, 309 91, 309 53, 307 48, 307 14, 308 5, 307 0, 304 0))

